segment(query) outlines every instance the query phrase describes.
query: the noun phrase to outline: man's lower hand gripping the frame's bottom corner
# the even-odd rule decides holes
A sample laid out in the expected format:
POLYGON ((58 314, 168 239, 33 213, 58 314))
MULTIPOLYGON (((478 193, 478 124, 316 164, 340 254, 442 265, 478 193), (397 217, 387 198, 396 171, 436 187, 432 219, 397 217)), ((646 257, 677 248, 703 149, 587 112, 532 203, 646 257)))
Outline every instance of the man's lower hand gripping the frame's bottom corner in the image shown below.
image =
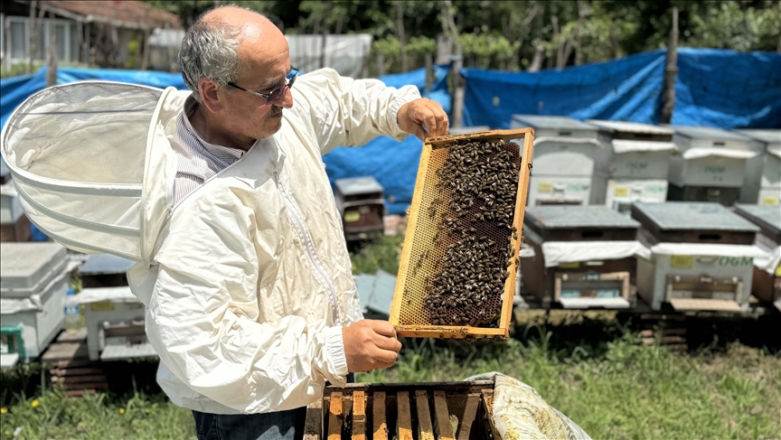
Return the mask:
POLYGON ((364 319, 342 329, 347 370, 351 373, 387 369, 396 362, 401 342, 387 321, 364 319))

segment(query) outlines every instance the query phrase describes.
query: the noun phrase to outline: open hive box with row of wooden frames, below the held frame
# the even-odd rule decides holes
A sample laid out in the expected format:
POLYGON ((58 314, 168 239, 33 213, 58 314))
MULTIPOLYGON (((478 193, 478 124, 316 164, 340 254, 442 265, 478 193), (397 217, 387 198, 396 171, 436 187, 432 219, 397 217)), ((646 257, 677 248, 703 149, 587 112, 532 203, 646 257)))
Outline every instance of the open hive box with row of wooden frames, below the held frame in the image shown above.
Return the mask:
POLYGON ((306 408, 305 440, 494 438, 492 381, 328 387, 306 408))

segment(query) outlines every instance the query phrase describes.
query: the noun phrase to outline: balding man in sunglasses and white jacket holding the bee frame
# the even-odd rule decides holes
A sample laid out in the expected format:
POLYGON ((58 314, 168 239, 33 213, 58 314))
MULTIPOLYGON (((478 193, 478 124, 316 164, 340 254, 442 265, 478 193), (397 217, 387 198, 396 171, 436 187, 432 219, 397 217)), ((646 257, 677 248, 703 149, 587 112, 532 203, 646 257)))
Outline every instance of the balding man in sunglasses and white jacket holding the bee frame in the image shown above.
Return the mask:
POLYGON ((445 135, 447 115, 413 87, 296 77, 277 27, 235 6, 202 15, 179 57, 193 95, 169 139, 174 208, 154 267, 129 276, 158 382, 201 439, 300 437, 326 381, 400 351, 390 323, 362 319, 321 155, 445 135))

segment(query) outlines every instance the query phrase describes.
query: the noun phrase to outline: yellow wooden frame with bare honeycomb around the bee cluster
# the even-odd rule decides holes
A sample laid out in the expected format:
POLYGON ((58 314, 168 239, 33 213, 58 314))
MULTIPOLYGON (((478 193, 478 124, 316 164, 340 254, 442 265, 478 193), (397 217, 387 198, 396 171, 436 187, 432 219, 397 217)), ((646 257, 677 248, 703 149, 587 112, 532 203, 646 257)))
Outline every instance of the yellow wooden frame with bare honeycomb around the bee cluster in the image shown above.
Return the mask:
POLYGON ((518 175, 518 190, 513 215, 513 226, 517 233, 511 236, 513 255, 518 255, 521 249, 523 215, 526 211, 526 197, 532 169, 534 130, 532 128, 517 128, 458 136, 429 137, 423 144, 415 192, 409 207, 407 232, 401 249, 399 276, 393 302, 390 305, 390 323, 395 327, 396 333, 404 337, 508 338, 510 319, 513 313, 515 280, 518 273, 517 258, 513 258, 508 265, 509 276, 504 281, 502 308, 497 326, 434 325, 430 323, 428 310, 424 305, 427 291, 425 290, 426 283, 423 280, 436 276, 437 267, 434 263, 423 264, 422 262, 434 260, 434 254, 441 254, 447 248, 442 245, 436 246, 438 232, 431 228, 431 219, 433 218, 430 214, 431 207, 437 204, 447 205, 449 202, 449 200, 443 200, 447 197, 445 194, 435 190, 438 182, 437 171, 444 164, 443 154, 447 154, 448 146, 456 141, 515 141, 521 145, 521 169, 518 175), (416 241, 418 246, 413 245, 416 241), (425 246, 421 246, 421 244, 425 246))

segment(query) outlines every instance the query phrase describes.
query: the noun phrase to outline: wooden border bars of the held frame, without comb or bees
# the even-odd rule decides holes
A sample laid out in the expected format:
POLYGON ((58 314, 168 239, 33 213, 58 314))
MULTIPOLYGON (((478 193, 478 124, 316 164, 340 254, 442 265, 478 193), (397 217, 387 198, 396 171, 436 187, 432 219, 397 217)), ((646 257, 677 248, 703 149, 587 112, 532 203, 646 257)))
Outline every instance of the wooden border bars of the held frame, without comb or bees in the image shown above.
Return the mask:
MULTIPOLYGON (((390 304, 390 323, 396 328, 396 333, 400 336, 413 338, 434 337, 466 339, 494 337, 507 338, 510 335, 509 327, 511 315, 513 313, 515 278, 518 272, 516 258, 513 258, 513 261, 510 263, 510 267, 508 267, 510 274, 504 281, 502 310, 499 316, 498 327, 401 323, 402 305, 405 300, 403 296, 407 286, 408 274, 410 271, 416 270, 415 267, 411 267, 412 265, 409 264, 409 260, 413 252, 412 243, 415 239, 416 233, 418 233, 416 230, 416 225, 418 224, 419 217, 421 215, 426 215, 425 213, 421 212, 421 205, 423 202, 423 188, 426 184, 429 159, 431 159, 432 151, 445 148, 447 145, 451 145, 452 143, 461 140, 480 142, 495 142, 500 140, 506 142, 512 140, 522 140, 521 170, 518 178, 518 192, 516 193, 515 213, 513 216, 513 226, 517 231, 517 235, 512 238, 514 251, 513 255, 517 256, 519 250, 521 249, 523 214, 526 210, 526 196, 529 192, 529 176, 532 169, 534 130, 532 128, 492 130, 458 136, 429 137, 426 139, 426 142, 423 144, 423 152, 420 155, 418 179, 415 183, 415 192, 412 196, 412 204, 409 208, 407 233, 404 237, 404 245, 401 251, 399 265, 399 282, 396 284, 396 290, 393 295, 393 302, 390 304)), ((414 273, 413 276, 415 276, 414 273)), ((428 312, 424 312, 424 314, 428 314, 428 312)))

